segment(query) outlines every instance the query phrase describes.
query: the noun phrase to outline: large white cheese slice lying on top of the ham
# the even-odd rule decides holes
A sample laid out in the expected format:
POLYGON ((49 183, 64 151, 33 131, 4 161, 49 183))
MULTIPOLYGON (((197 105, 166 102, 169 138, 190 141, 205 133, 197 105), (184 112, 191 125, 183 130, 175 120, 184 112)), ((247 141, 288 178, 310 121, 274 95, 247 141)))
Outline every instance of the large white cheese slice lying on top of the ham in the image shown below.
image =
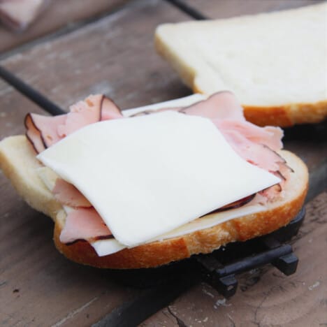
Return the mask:
POLYGON ((278 183, 203 117, 160 112, 85 126, 38 154, 133 247, 278 183))

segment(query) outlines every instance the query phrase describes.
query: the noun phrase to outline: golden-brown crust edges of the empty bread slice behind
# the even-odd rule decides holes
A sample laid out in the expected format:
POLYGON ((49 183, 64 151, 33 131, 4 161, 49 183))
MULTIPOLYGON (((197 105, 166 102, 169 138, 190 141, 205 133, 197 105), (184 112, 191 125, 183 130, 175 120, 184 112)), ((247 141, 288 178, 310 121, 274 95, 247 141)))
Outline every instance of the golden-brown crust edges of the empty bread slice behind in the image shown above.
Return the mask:
MULTIPOLYGON (((167 47, 159 34, 154 35, 157 52, 170 63, 185 85, 194 93, 206 94, 196 82, 198 75, 194 68, 167 47)), ((217 90, 219 91, 219 90, 217 90)), ((295 124, 312 124, 323 122, 327 118, 327 100, 315 103, 284 103, 282 106, 252 106, 242 103, 245 118, 259 126, 289 127, 295 124)))

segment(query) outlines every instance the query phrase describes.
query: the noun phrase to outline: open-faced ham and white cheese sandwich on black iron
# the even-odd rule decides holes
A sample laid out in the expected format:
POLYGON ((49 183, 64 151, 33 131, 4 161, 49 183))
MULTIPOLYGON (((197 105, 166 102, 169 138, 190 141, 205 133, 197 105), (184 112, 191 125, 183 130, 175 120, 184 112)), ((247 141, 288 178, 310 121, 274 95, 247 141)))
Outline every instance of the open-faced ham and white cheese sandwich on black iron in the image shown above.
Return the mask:
POLYGON ((157 267, 270 233, 307 192, 282 130, 247 122, 231 92, 123 111, 96 94, 24 123, 1 140, 1 169, 52 218, 59 252, 89 266, 157 267))

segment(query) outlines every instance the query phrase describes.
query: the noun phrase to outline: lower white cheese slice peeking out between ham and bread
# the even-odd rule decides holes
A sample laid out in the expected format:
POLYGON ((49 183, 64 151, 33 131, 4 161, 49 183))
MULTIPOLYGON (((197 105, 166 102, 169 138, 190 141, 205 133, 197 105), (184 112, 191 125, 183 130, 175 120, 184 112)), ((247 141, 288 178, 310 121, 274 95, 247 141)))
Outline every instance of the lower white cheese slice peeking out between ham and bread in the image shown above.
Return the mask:
MULTIPOLYGON (((263 205, 259 204, 245 205, 241 208, 207 215, 205 217, 195 219, 194 221, 190 221, 187 224, 177 227, 173 231, 160 235, 159 237, 154 238, 154 240, 150 240, 149 242, 154 242, 157 240, 167 240, 168 238, 177 238, 178 236, 193 233, 194 231, 201 231, 201 229, 216 226, 231 219, 235 219, 245 215, 252 215, 256 212, 260 212, 265 209, 266 208, 263 205)), ((115 240, 115 238, 110 238, 108 240, 97 240, 95 242, 91 242, 90 244, 92 245, 92 247, 94 247, 98 256, 108 256, 109 254, 119 252, 120 250, 126 248, 126 246, 122 245, 122 243, 119 243, 117 240, 115 240)))

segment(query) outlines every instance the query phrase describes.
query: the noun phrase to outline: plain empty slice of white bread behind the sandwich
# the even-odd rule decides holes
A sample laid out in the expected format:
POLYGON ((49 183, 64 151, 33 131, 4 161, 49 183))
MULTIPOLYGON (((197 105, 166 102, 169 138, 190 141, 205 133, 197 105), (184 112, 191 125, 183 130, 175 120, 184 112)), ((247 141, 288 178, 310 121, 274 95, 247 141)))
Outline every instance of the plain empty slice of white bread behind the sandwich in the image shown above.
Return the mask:
POLYGON ((327 117, 327 2, 157 27, 155 46, 194 92, 228 89, 254 124, 327 117))

